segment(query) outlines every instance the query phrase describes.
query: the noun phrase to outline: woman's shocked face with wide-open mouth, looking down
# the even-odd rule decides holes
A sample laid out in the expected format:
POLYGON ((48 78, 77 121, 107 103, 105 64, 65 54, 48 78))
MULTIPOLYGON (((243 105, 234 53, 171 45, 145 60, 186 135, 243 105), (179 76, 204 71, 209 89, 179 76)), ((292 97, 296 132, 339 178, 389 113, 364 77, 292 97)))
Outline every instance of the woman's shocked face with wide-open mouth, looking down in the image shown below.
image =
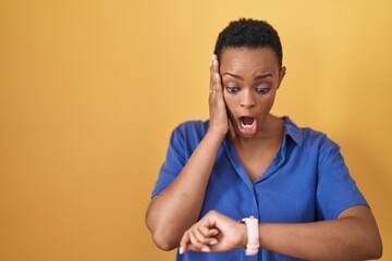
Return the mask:
POLYGON ((270 48, 226 48, 220 57, 223 97, 234 130, 262 137, 266 120, 284 76, 270 48))

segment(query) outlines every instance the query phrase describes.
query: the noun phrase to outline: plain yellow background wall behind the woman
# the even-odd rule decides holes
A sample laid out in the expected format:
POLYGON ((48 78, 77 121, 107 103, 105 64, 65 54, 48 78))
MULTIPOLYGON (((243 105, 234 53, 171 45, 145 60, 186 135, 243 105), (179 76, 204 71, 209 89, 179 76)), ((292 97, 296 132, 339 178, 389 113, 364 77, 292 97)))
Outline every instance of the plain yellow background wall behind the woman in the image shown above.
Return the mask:
POLYGON ((0 0, 0 260, 173 260, 144 224, 173 127, 208 117, 217 34, 281 35, 273 112, 338 141, 392 260, 392 3, 0 0))

